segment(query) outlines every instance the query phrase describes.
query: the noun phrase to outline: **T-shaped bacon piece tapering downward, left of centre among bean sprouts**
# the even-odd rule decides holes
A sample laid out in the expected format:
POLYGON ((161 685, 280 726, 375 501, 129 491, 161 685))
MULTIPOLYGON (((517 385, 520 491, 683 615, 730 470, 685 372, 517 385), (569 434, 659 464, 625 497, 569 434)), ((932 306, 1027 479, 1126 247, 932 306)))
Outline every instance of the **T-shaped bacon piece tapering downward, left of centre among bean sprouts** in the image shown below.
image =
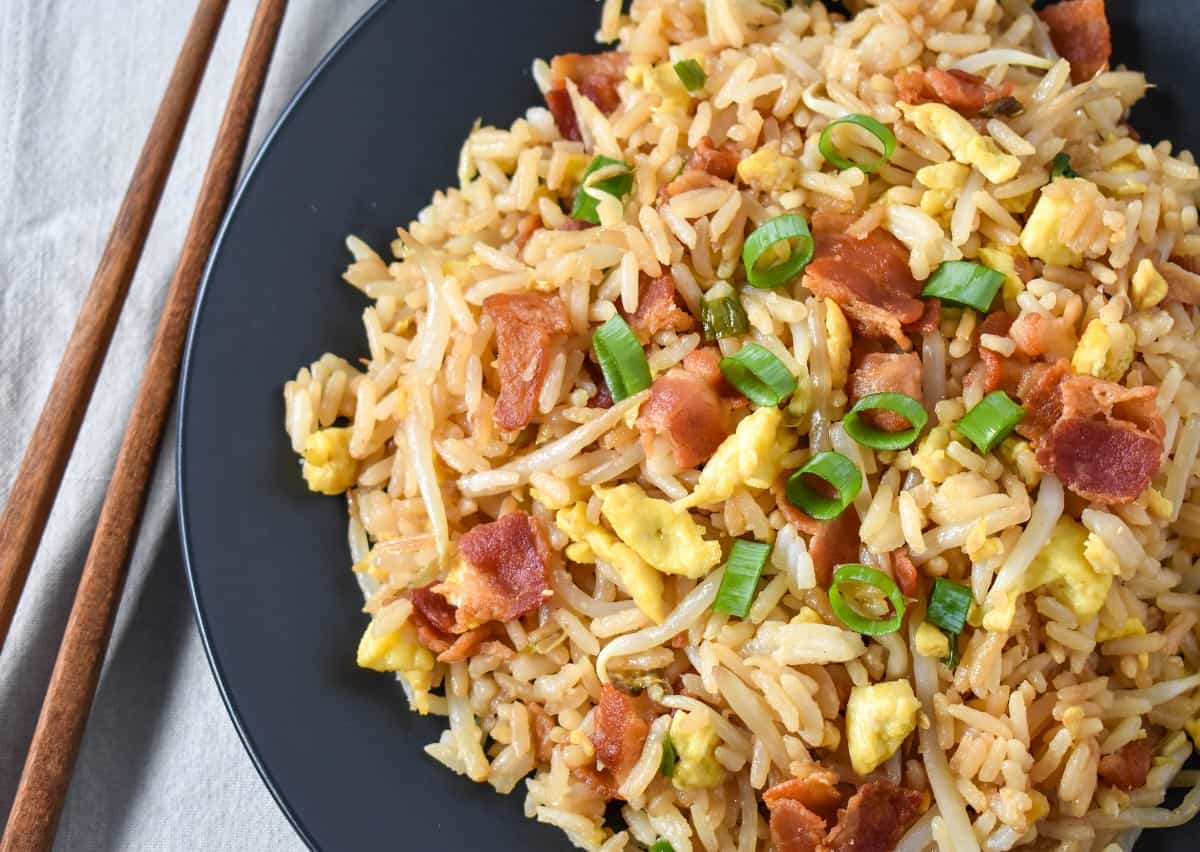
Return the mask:
POLYGON ((524 428, 538 410, 553 346, 571 329, 566 306, 557 295, 498 293, 484 301, 484 313, 496 323, 500 373, 496 424, 509 431, 524 428))

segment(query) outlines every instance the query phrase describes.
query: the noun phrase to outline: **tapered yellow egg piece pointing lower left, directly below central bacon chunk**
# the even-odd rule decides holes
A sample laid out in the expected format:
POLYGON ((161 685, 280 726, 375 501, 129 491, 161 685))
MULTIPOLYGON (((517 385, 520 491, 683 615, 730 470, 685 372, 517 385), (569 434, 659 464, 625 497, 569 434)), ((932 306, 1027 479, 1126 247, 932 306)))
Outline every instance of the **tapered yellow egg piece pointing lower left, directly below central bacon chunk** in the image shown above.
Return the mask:
POLYGON ((727 500, 742 485, 769 488, 779 478, 784 456, 796 446, 796 433, 781 430, 782 424, 784 413, 778 408, 760 408, 745 418, 704 464, 696 490, 676 500, 676 509, 727 500))

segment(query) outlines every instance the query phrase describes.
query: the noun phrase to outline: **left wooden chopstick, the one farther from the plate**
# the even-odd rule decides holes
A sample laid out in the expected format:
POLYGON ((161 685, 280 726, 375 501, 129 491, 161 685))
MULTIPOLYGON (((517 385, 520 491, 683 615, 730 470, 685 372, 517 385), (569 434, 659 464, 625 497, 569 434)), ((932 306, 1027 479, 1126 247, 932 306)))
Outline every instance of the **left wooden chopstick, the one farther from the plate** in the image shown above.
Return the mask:
POLYGON ((202 0, 0 515, 0 649, 142 258, 229 0, 202 0))

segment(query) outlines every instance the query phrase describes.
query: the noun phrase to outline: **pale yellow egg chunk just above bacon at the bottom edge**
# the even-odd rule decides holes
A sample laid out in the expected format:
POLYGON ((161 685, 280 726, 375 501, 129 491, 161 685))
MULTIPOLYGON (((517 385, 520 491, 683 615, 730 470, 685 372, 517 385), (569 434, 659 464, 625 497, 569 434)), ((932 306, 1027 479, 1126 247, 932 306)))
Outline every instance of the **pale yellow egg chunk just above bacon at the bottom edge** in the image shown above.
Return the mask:
POLYGON ((850 763, 859 775, 875 770, 917 730, 920 702, 907 680, 854 686, 846 702, 850 763))

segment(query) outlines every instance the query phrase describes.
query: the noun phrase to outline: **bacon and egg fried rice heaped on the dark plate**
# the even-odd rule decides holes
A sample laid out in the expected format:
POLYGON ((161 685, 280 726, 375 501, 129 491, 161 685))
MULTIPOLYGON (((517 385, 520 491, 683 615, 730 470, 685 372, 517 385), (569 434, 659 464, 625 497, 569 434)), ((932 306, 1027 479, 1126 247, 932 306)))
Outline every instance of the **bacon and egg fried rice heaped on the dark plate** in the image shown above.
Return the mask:
POLYGON ((582 848, 1111 852, 1200 810, 1200 170, 1127 122, 1102 0, 859 6, 606 0, 395 260, 348 239, 370 356, 284 390, 359 665, 582 848), (928 422, 848 416, 877 392, 928 422))

